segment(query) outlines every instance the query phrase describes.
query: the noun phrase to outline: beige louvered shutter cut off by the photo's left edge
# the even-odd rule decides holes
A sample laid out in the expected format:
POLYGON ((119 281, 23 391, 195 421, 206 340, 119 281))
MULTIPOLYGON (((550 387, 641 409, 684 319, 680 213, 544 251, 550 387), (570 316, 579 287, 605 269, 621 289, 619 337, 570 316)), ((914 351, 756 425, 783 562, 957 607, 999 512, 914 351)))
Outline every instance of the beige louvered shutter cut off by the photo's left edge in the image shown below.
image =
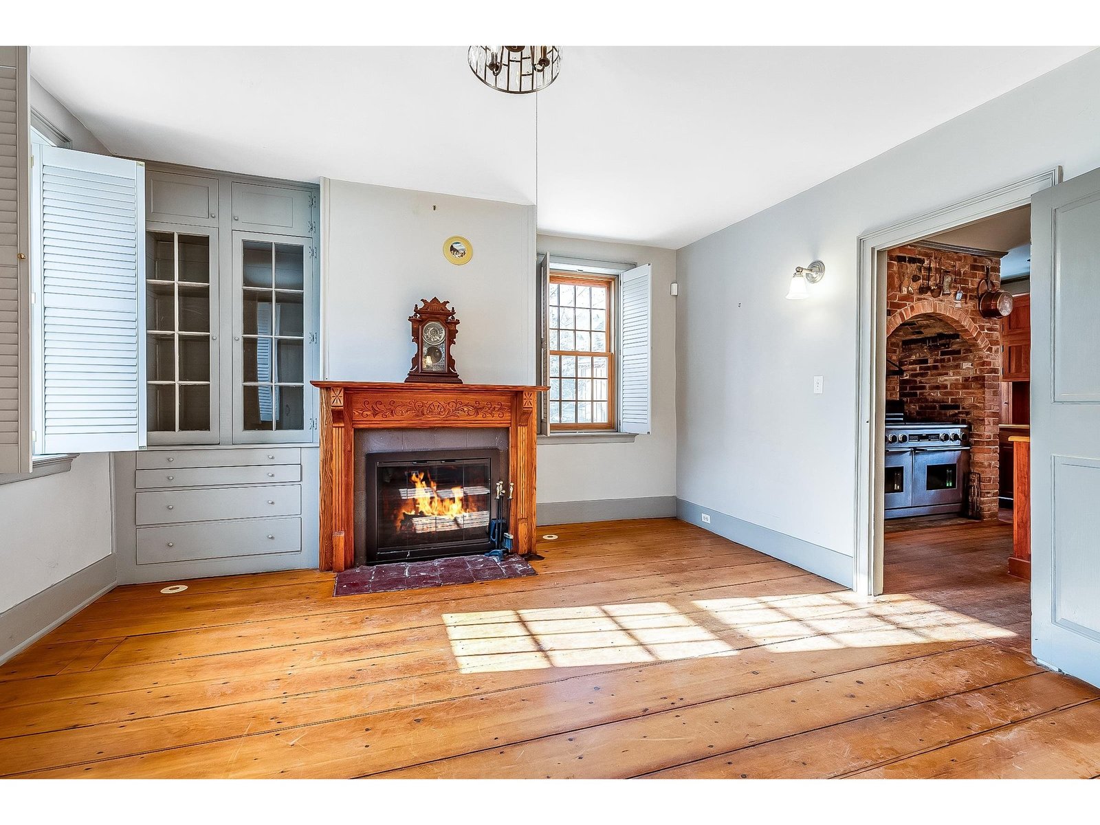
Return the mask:
POLYGON ((0 46, 0 473, 31 471, 29 138, 26 47, 0 46))

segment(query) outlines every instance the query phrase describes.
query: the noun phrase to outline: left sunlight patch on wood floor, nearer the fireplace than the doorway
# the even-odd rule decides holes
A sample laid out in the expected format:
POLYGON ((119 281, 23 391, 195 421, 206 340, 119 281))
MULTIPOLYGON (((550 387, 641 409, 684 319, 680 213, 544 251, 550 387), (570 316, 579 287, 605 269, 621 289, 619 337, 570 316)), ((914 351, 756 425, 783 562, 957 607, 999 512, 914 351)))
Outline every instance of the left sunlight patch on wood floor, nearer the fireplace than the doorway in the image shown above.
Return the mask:
POLYGON ((443 614, 463 673, 630 664, 729 654, 663 602, 443 614))

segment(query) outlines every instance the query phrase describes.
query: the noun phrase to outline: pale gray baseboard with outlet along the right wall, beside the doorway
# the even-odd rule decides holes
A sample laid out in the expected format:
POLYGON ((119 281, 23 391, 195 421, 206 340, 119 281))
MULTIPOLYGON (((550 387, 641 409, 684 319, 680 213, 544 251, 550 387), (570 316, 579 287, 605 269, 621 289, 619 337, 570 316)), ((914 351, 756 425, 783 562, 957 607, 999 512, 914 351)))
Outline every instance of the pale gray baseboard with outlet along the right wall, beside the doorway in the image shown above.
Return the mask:
POLYGON ((704 530, 717 534, 723 538, 736 541, 738 544, 759 550, 774 559, 785 561, 796 568, 815 573, 831 582, 853 585, 856 562, 850 556, 829 550, 827 547, 796 539, 784 532, 768 527, 755 525, 751 521, 735 516, 727 516, 708 507, 701 507, 694 502, 676 499, 676 518, 681 521, 702 527, 704 530), (704 524, 702 515, 711 516, 711 524, 704 524))

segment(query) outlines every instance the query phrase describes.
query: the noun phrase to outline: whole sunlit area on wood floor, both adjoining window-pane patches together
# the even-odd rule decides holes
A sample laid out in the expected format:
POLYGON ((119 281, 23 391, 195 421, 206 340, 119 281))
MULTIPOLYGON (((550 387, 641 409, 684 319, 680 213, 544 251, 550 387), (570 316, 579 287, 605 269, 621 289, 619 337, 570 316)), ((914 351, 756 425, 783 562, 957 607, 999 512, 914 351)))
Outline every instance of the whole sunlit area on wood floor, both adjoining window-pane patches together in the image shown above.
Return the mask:
POLYGON ((1011 630, 914 596, 851 592, 443 614, 463 673, 1003 639, 1011 630), (728 629, 724 629, 728 628, 728 629), (717 634, 717 635, 716 635, 717 634))

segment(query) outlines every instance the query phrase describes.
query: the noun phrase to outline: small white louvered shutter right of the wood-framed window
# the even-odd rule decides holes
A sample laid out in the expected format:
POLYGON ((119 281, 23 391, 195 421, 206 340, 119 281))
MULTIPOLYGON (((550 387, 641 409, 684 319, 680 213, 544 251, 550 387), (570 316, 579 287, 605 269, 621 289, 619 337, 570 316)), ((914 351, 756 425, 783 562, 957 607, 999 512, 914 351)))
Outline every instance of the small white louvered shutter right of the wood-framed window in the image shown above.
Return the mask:
POLYGON ((619 429, 647 433, 650 428, 652 340, 650 266, 619 275, 619 429))

